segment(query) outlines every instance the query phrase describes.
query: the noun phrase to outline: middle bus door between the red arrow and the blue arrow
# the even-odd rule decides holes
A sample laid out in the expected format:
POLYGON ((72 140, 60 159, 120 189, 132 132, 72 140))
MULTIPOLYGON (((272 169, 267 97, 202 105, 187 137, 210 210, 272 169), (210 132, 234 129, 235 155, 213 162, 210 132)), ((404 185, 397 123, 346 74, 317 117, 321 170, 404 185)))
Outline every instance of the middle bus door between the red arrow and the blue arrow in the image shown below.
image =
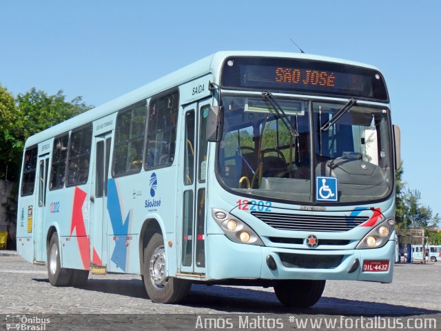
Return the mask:
POLYGON ((91 190, 92 223, 90 227, 90 261, 93 267, 104 267, 107 261, 107 178, 109 175, 112 134, 95 137, 94 177, 91 190), (104 263, 103 263, 104 261, 104 263))

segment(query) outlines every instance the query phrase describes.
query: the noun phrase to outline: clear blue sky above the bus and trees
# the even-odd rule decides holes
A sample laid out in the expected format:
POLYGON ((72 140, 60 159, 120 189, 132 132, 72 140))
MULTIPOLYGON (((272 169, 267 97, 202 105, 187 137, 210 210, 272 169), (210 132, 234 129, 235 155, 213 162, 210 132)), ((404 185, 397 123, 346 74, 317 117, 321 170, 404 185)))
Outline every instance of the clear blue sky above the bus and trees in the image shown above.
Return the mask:
POLYGON ((293 39, 382 71, 404 181, 441 214, 440 15, 438 0, 3 0, 0 84, 99 106, 218 50, 298 52, 293 39))

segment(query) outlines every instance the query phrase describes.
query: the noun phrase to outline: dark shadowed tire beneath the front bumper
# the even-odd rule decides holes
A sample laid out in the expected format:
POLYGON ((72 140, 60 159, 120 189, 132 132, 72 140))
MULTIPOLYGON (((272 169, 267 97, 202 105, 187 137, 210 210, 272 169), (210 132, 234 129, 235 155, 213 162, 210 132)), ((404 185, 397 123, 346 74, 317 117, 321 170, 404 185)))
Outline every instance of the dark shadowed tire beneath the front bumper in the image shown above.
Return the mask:
POLYGON ((326 281, 293 279, 274 285, 276 297, 287 307, 307 308, 322 297, 326 281))

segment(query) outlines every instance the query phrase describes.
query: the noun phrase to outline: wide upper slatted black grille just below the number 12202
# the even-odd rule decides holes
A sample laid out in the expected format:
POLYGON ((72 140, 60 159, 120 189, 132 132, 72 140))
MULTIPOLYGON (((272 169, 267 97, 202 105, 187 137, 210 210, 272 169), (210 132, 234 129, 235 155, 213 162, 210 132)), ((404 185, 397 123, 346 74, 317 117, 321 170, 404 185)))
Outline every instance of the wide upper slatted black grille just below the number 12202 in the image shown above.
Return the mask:
POLYGON ((345 232, 369 219, 365 216, 299 215, 275 212, 252 212, 252 214, 278 230, 345 232))

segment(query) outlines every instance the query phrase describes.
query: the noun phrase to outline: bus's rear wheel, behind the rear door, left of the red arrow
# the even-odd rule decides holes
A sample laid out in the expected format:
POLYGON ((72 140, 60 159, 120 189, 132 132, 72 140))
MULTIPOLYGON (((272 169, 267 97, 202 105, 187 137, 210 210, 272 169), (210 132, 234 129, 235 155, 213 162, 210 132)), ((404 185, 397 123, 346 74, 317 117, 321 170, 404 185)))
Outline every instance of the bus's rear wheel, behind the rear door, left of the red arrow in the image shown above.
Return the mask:
POLYGON ((49 241, 48 249, 48 277, 52 286, 68 286, 71 270, 61 268, 58 234, 54 232, 49 241))

